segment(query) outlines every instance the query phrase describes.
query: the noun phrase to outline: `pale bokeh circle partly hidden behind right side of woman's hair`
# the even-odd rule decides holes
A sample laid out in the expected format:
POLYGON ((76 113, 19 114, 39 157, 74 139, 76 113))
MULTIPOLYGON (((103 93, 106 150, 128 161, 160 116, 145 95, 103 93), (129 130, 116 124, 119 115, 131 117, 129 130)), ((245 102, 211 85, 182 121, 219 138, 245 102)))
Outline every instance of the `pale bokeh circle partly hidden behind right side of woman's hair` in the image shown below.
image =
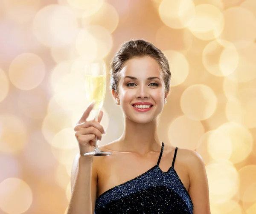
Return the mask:
POLYGON ((171 86, 177 86, 186 80, 189 74, 189 63, 186 57, 177 51, 164 51, 169 61, 169 67, 172 72, 171 86))

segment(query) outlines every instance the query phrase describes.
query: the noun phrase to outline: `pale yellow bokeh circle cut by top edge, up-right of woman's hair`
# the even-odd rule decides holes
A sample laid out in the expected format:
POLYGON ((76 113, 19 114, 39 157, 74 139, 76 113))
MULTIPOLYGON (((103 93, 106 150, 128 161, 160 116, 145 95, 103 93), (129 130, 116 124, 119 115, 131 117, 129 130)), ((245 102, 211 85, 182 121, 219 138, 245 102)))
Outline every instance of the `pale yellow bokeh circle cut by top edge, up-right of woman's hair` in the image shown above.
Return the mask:
POLYGON ((188 26, 194 18, 195 5, 192 0, 163 0, 158 12, 164 24, 180 29, 188 26))

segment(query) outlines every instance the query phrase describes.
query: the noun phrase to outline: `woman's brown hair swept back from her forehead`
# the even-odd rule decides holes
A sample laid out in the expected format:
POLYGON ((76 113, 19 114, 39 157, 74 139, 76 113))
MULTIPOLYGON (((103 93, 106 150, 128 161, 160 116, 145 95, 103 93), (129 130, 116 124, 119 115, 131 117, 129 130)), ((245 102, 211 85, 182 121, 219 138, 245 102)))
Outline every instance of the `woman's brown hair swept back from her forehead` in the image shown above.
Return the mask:
POLYGON ((118 92, 118 85, 120 81, 120 71, 122 70, 126 61, 135 57, 152 57, 157 61, 161 70, 163 71, 163 80, 165 84, 165 92, 170 91, 171 72, 168 60, 160 49, 145 40, 130 40, 123 43, 116 52, 111 61, 110 70, 110 88, 118 92))

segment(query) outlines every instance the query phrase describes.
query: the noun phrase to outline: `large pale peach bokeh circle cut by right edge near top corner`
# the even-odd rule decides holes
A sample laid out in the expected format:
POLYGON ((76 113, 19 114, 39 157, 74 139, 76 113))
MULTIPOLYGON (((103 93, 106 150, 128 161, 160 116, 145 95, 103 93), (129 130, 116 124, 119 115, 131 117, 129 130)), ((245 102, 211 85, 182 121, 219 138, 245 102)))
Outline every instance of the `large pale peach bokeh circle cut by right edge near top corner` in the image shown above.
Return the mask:
POLYGON ((242 7, 232 7, 223 12, 224 30, 220 39, 233 43, 236 47, 246 47, 256 38, 256 17, 242 7), (236 24, 234 24, 236 23, 236 24))

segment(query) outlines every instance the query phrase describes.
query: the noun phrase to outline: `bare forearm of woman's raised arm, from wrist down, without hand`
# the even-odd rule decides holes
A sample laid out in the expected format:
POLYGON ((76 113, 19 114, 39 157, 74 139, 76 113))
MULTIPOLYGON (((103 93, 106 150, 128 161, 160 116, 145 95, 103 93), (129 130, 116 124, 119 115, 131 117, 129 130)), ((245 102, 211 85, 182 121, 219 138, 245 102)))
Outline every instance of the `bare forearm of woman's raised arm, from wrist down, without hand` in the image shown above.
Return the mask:
POLYGON ((94 157, 77 154, 71 172, 71 199, 67 214, 93 214, 96 200, 97 174, 94 157))

